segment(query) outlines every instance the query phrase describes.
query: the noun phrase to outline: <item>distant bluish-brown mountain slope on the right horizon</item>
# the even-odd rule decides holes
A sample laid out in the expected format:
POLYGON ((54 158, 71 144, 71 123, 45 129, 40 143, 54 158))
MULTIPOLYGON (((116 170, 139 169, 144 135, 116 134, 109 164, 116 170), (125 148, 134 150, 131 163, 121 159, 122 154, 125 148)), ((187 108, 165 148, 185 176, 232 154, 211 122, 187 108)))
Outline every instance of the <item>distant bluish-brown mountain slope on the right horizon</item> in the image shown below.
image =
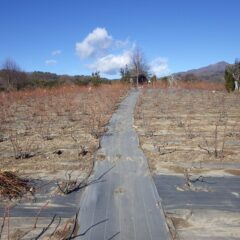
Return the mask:
POLYGON ((177 79, 182 80, 192 78, 192 80, 224 82, 224 72, 227 65, 229 65, 229 63, 222 61, 206 67, 179 72, 174 75, 177 79))

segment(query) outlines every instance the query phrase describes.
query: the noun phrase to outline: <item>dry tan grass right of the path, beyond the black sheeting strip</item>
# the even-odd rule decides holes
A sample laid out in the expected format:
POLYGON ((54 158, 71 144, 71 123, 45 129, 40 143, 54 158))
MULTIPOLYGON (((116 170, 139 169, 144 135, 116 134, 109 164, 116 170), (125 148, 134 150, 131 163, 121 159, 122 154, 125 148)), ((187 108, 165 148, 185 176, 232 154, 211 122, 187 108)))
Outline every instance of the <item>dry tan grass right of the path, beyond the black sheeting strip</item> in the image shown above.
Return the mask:
POLYGON ((143 90, 135 124, 153 171, 239 163, 240 95, 200 86, 143 90))

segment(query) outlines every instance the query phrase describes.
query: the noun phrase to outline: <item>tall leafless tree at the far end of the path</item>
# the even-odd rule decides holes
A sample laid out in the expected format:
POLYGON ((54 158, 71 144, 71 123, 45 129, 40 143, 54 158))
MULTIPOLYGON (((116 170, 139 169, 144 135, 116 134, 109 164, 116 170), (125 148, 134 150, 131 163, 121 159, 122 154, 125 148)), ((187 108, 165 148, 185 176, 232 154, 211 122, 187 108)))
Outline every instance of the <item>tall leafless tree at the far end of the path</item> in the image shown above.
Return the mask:
POLYGON ((136 76, 137 87, 139 83, 139 75, 148 75, 149 67, 146 63, 143 52, 139 48, 135 48, 131 56, 131 70, 136 76))

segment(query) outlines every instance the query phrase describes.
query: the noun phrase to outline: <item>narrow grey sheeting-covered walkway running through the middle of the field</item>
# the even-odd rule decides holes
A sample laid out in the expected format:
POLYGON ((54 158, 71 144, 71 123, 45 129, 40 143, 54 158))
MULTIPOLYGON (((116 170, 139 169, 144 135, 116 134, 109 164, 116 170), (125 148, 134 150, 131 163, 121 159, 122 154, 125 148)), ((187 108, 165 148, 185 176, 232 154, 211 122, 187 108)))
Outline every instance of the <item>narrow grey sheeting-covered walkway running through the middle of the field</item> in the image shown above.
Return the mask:
POLYGON ((80 203, 79 239, 170 239, 160 198, 133 129, 139 92, 130 95, 113 115, 97 152, 93 179, 80 203))

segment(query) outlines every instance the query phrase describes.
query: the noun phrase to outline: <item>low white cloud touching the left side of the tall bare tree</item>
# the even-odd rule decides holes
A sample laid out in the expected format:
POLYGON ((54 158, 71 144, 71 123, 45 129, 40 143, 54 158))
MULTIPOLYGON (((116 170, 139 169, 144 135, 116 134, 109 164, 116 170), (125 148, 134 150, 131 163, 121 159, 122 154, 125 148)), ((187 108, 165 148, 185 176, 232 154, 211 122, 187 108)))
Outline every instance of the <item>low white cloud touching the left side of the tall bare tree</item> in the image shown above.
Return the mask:
POLYGON ((114 55, 109 54, 107 56, 98 58, 93 64, 89 65, 89 68, 93 71, 100 71, 107 75, 119 74, 120 68, 129 65, 131 62, 131 52, 125 51, 122 54, 114 55))

